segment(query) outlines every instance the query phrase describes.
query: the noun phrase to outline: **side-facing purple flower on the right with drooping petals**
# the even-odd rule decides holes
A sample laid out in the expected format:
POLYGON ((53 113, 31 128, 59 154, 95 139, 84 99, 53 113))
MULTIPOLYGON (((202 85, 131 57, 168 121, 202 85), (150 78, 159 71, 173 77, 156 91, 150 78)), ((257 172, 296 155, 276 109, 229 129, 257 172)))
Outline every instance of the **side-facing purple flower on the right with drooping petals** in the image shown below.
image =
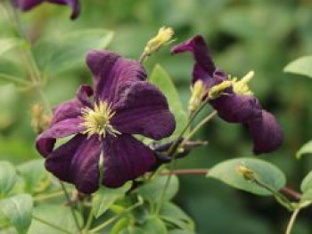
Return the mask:
POLYGON ((283 133, 275 117, 262 109, 259 101, 244 84, 244 79, 230 80, 218 69, 209 55, 209 49, 201 36, 177 44, 172 53, 192 52, 195 60, 193 67, 193 86, 198 81, 204 86, 207 97, 209 90, 223 82, 231 85, 218 98, 210 100, 211 106, 218 111, 218 116, 230 123, 241 123, 250 130, 253 151, 261 154, 277 149, 283 141, 283 133))

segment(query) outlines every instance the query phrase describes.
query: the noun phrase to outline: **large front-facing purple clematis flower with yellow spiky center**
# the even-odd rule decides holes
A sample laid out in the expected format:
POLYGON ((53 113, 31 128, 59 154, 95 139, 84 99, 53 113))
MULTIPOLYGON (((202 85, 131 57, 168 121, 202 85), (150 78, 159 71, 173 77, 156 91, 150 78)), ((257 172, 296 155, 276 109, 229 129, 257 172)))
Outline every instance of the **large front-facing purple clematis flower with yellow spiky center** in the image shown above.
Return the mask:
POLYGON ((37 136, 37 150, 46 158, 48 171, 79 191, 92 193, 100 183, 101 155, 101 183, 118 188, 156 163, 153 150, 132 135, 160 140, 174 132, 176 122, 164 95, 145 81, 138 61, 93 51, 86 62, 94 89, 81 85, 75 99, 53 110, 50 127, 37 136), (56 139, 70 135, 70 141, 54 149, 56 139))

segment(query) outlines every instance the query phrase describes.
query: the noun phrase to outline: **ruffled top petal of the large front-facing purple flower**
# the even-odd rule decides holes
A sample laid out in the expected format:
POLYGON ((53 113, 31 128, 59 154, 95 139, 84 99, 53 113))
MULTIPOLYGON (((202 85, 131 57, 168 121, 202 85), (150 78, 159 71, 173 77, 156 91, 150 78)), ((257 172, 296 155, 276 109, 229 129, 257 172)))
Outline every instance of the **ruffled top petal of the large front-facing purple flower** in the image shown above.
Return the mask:
POLYGON ((138 61, 127 60, 114 52, 89 52, 86 63, 94 76, 95 100, 116 102, 119 89, 126 83, 146 78, 145 70, 138 61))

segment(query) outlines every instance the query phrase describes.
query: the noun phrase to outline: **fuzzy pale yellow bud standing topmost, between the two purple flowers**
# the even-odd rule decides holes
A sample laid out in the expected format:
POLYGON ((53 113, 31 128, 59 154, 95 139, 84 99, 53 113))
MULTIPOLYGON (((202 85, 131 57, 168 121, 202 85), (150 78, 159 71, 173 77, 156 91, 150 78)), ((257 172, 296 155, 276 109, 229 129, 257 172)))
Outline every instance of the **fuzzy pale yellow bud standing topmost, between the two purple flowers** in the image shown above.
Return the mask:
POLYGON ((168 44, 174 33, 175 32, 172 28, 160 28, 157 36, 152 37, 152 39, 146 44, 144 55, 150 56, 153 52, 157 52, 161 46, 168 44))

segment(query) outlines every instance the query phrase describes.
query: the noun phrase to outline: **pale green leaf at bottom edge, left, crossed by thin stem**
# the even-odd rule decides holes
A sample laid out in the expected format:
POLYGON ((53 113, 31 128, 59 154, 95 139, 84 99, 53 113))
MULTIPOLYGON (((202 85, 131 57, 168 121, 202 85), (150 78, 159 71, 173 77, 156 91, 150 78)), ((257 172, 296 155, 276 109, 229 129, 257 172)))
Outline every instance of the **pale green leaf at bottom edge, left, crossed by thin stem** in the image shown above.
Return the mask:
MULTIPOLYGON (((76 212, 80 227, 83 224, 83 218, 80 213, 76 212)), ((37 206, 34 209, 34 216, 42 221, 52 223, 55 226, 61 227, 62 230, 68 230, 71 233, 79 233, 76 223, 70 212, 70 207, 60 205, 43 205, 37 206)), ((31 222, 28 234, 64 234, 61 230, 56 230, 52 226, 33 219, 31 222), (43 231, 44 230, 44 231, 43 231)))

